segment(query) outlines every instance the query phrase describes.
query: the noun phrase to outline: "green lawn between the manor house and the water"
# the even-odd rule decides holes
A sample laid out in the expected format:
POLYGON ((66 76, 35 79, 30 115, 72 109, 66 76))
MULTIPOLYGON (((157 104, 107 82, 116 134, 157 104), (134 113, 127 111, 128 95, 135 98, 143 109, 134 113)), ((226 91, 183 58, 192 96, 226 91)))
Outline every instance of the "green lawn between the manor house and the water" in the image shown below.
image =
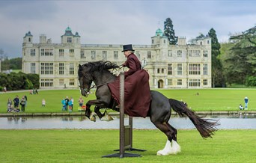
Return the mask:
MULTIPOLYGON (((238 105, 244 105, 243 99, 249 97, 249 110, 256 111, 256 89, 174 89, 158 90, 168 98, 186 101, 194 111, 237 111, 238 105), (199 95, 196 95, 196 94, 199 95)), ((13 99, 16 95, 28 96, 28 105, 25 112, 61 112, 61 99, 72 96, 74 99, 74 111, 78 111, 77 90, 39 90, 39 94, 30 95, 29 90, 17 93, 0 93, 0 113, 7 111, 7 99, 13 99), (42 99, 46 99, 46 107, 41 107, 42 99)), ((83 97, 85 102, 95 99, 94 94, 83 97)))

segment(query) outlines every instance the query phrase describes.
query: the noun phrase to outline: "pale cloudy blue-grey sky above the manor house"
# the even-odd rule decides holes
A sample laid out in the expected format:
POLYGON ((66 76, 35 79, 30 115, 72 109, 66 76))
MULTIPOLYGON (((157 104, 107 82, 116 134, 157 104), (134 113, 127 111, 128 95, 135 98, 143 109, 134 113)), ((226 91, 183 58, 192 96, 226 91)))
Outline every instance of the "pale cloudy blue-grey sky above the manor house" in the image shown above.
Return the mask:
POLYGON ((253 0, 0 0, 0 49, 8 58, 22 57, 28 31, 33 43, 40 34, 61 43, 68 26, 82 44, 150 45, 167 18, 178 37, 188 41, 213 28, 223 43, 256 25, 255 8, 253 0))

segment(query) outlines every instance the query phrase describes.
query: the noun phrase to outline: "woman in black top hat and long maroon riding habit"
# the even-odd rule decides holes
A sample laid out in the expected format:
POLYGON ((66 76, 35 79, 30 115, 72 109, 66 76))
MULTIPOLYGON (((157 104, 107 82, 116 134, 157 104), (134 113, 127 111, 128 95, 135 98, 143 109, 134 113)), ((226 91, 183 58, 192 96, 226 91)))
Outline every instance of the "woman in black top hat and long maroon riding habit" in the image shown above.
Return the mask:
MULTIPOLYGON (((124 112, 133 117, 146 117, 151 100, 149 75, 146 70, 141 69, 141 63, 134 55, 131 44, 124 45, 122 52, 127 58, 123 66, 129 68, 124 72, 124 112)), ((108 85, 112 96, 119 104, 119 78, 108 85)))

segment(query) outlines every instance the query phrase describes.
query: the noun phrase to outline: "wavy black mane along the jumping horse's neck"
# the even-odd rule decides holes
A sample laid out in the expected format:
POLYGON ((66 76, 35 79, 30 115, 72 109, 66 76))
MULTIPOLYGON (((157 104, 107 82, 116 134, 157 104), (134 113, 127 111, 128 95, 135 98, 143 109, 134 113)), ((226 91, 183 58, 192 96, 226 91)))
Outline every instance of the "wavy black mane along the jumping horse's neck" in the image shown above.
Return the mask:
MULTIPOLYGON (((93 73, 94 71, 103 72, 103 70, 109 71, 110 69, 117 69, 119 66, 111 61, 94 61, 82 64, 82 67, 88 67, 88 73, 93 73)), ((82 73, 82 69, 80 67, 79 73, 82 73)))

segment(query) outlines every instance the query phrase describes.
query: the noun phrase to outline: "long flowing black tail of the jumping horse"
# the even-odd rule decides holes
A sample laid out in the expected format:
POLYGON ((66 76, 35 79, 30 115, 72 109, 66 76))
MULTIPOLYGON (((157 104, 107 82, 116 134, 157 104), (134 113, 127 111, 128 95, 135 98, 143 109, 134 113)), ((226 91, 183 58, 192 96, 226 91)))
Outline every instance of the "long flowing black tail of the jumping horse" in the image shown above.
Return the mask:
POLYGON ((217 120, 198 117, 198 115, 196 115, 194 111, 190 110, 184 102, 177 101, 176 99, 169 99, 169 102, 171 104, 171 108, 173 108, 180 117, 184 117, 185 115, 189 117, 203 138, 212 138, 212 135, 214 135, 214 132, 217 130, 216 126, 219 125, 217 120))

